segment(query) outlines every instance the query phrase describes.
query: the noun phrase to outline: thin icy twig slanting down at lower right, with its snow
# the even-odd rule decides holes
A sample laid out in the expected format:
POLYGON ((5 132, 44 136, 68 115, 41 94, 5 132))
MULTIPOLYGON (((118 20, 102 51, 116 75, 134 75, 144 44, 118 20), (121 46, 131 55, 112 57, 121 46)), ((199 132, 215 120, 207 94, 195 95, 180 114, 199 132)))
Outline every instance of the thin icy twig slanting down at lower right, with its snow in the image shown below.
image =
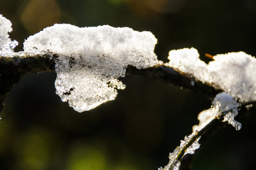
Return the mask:
POLYGON ((240 110, 241 107, 246 107, 255 102, 256 101, 240 104, 225 92, 216 95, 212 102, 212 107, 199 113, 199 125, 193 126, 192 134, 185 136, 184 140, 181 140, 180 146, 178 146, 173 153, 169 154, 169 163, 164 168, 159 168, 159 170, 179 170, 181 159, 187 153, 194 154, 195 150, 200 148, 199 141, 202 135, 204 135, 207 130, 214 128, 220 121, 228 122, 228 124, 233 125, 236 130, 240 130, 241 123, 234 120, 234 117, 238 115, 238 110, 240 110))

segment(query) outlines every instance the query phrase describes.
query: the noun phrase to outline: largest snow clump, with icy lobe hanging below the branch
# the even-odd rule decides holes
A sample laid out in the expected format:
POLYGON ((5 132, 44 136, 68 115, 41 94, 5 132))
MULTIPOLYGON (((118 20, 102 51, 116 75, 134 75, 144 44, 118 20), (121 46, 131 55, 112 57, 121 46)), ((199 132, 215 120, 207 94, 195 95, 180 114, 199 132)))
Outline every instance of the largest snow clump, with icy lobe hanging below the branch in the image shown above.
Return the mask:
POLYGON ((125 76, 128 65, 137 68, 156 65, 159 62, 154 53, 156 42, 151 32, 131 28, 55 24, 28 37, 24 51, 58 55, 56 94, 82 112, 115 99, 117 89, 125 88, 117 78, 125 76))

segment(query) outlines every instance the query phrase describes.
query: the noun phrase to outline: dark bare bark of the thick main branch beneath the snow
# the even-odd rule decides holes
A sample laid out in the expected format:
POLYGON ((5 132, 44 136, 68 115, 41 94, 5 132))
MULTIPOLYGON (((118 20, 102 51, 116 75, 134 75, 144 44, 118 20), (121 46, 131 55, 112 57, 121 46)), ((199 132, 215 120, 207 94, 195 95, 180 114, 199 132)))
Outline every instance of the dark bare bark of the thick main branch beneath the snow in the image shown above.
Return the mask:
MULTIPOLYGON (((21 78, 30 73, 51 72, 54 71, 55 54, 33 55, 26 53, 17 53, 14 57, 0 56, 0 111, 3 108, 3 101, 12 90, 13 86, 21 80, 21 78)), ((206 97, 213 99, 216 94, 222 92, 215 85, 206 84, 196 80, 193 75, 187 75, 174 70, 166 65, 155 65, 146 69, 137 69, 128 66, 126 74, 141 75, 144 77, 162 80, 172 85, 177 85, 188 90, 202 93, 206 97)))

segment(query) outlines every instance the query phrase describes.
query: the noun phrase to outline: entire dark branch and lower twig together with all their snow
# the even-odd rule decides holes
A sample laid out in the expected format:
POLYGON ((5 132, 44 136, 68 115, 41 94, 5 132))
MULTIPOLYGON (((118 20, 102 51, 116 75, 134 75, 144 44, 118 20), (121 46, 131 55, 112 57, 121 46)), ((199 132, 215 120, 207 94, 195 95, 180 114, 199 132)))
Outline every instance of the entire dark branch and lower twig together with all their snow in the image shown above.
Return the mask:
POLYGON ((108 25, 78 28, 56 24, 28 37, 24 51, 13 52, 11 23, 0 15, 0 111, 13 85, 33 72, 55 70, 56 94, 78 112, 114 100, 125 74, 163 80, 214 98, 198 115, 199 125, 170 153, 160 170, 178 170, 181 158, 200 147, 200 137, 220 120, 241 129, 234 117, 240 107, 256 101, 256 59, 245 52, 215 55, 206 64, 195 48, 171 50, 169 63, 157 60, 157 39, 151 32, 108 25), (218 95, 217 95, 218 94, 218 95))

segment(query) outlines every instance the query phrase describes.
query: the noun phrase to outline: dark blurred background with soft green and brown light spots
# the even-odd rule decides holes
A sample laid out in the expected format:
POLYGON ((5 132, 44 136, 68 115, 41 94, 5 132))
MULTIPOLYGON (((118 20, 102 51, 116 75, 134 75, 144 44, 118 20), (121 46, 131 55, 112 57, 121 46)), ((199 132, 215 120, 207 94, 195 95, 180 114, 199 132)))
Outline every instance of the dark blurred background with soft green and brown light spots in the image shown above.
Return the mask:
MULTIPOLYGON (((23 49, 29 35, 54 23, 110 25, 151 31, 155 53, 195 47, 201 59, 244 51, 256 55, 255 0, 0 0, 10 37, 23 49)), ((24 77, 0 113, 1 170, 157 170, 198 123, 211 101, 179 87, 129 75, 115 100, 78 113, 55 94, 56 74, 24 77)), ((202 145, 192 170, 253 170, 256 110, 236 118, 202 145)))

